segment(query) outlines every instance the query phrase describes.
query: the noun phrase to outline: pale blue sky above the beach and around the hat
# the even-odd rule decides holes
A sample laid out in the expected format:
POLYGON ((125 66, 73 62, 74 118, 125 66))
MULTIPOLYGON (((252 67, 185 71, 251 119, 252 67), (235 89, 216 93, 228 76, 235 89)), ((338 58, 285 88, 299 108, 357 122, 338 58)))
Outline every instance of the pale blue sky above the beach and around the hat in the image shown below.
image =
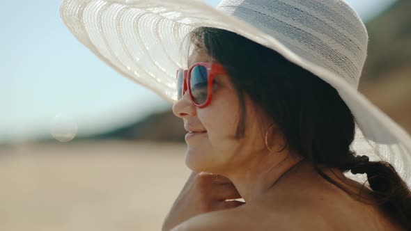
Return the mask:
MULTIPOLYGON (((217 6, 219 0, 205 0, 217 6)), ((351 0, 366 21, 395 0, 351 0)), ((70 116, 94 134, 170 108, 81 45, 59 17, 61 0, 4 1, 0 8, 0 143, 48 134, 70 116)))

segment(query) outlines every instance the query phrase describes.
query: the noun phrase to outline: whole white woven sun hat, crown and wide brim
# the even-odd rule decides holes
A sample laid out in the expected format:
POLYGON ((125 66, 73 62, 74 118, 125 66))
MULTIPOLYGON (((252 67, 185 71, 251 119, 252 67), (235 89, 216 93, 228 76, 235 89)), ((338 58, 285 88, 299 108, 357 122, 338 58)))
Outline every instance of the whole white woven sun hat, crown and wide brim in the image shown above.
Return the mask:
POLYGON ((176 70, 187 68, 182 42, 196 27, 269 47, 336 88, 355 116, 352 150, 388 161, 411 188, 409 134, 357 91, 368 35, 343 0, 63 0, 61 17, 102 61, 169 102, 176 70))

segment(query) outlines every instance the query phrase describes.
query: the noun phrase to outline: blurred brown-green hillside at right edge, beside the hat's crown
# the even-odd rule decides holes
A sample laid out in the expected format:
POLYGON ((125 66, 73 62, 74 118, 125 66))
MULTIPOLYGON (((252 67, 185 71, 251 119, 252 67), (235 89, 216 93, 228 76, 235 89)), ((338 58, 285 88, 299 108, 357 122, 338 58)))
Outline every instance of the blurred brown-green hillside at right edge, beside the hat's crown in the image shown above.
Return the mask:
POLYGON ((369 56, 359 90, 411 133, 411 1, 366 24, 369 56))

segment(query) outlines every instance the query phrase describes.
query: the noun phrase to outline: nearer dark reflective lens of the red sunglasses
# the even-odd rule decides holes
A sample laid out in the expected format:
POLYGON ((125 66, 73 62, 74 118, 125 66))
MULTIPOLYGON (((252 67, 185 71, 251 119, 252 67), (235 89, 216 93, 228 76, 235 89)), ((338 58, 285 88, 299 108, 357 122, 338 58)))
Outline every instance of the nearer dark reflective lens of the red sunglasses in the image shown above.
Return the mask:
POLYGON ((191 72, 190 88, 196 104, 203 104, 208 97, 207 68, 201 65, 195 66, 191 72))

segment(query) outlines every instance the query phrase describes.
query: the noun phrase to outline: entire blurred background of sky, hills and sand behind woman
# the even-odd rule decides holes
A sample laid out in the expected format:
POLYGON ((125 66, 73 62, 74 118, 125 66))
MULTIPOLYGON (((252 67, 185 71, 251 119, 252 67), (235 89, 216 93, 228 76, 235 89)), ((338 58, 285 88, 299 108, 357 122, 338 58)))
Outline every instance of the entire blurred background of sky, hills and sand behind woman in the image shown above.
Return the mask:
MULTIPOLYGON (((411 1, 347 1, 370 38, 359 90, 411 132, 411 1)), ((77 42, 60 3, 0 8, 0 230, 160 230, 191 172, 183 122, 77 42)))

